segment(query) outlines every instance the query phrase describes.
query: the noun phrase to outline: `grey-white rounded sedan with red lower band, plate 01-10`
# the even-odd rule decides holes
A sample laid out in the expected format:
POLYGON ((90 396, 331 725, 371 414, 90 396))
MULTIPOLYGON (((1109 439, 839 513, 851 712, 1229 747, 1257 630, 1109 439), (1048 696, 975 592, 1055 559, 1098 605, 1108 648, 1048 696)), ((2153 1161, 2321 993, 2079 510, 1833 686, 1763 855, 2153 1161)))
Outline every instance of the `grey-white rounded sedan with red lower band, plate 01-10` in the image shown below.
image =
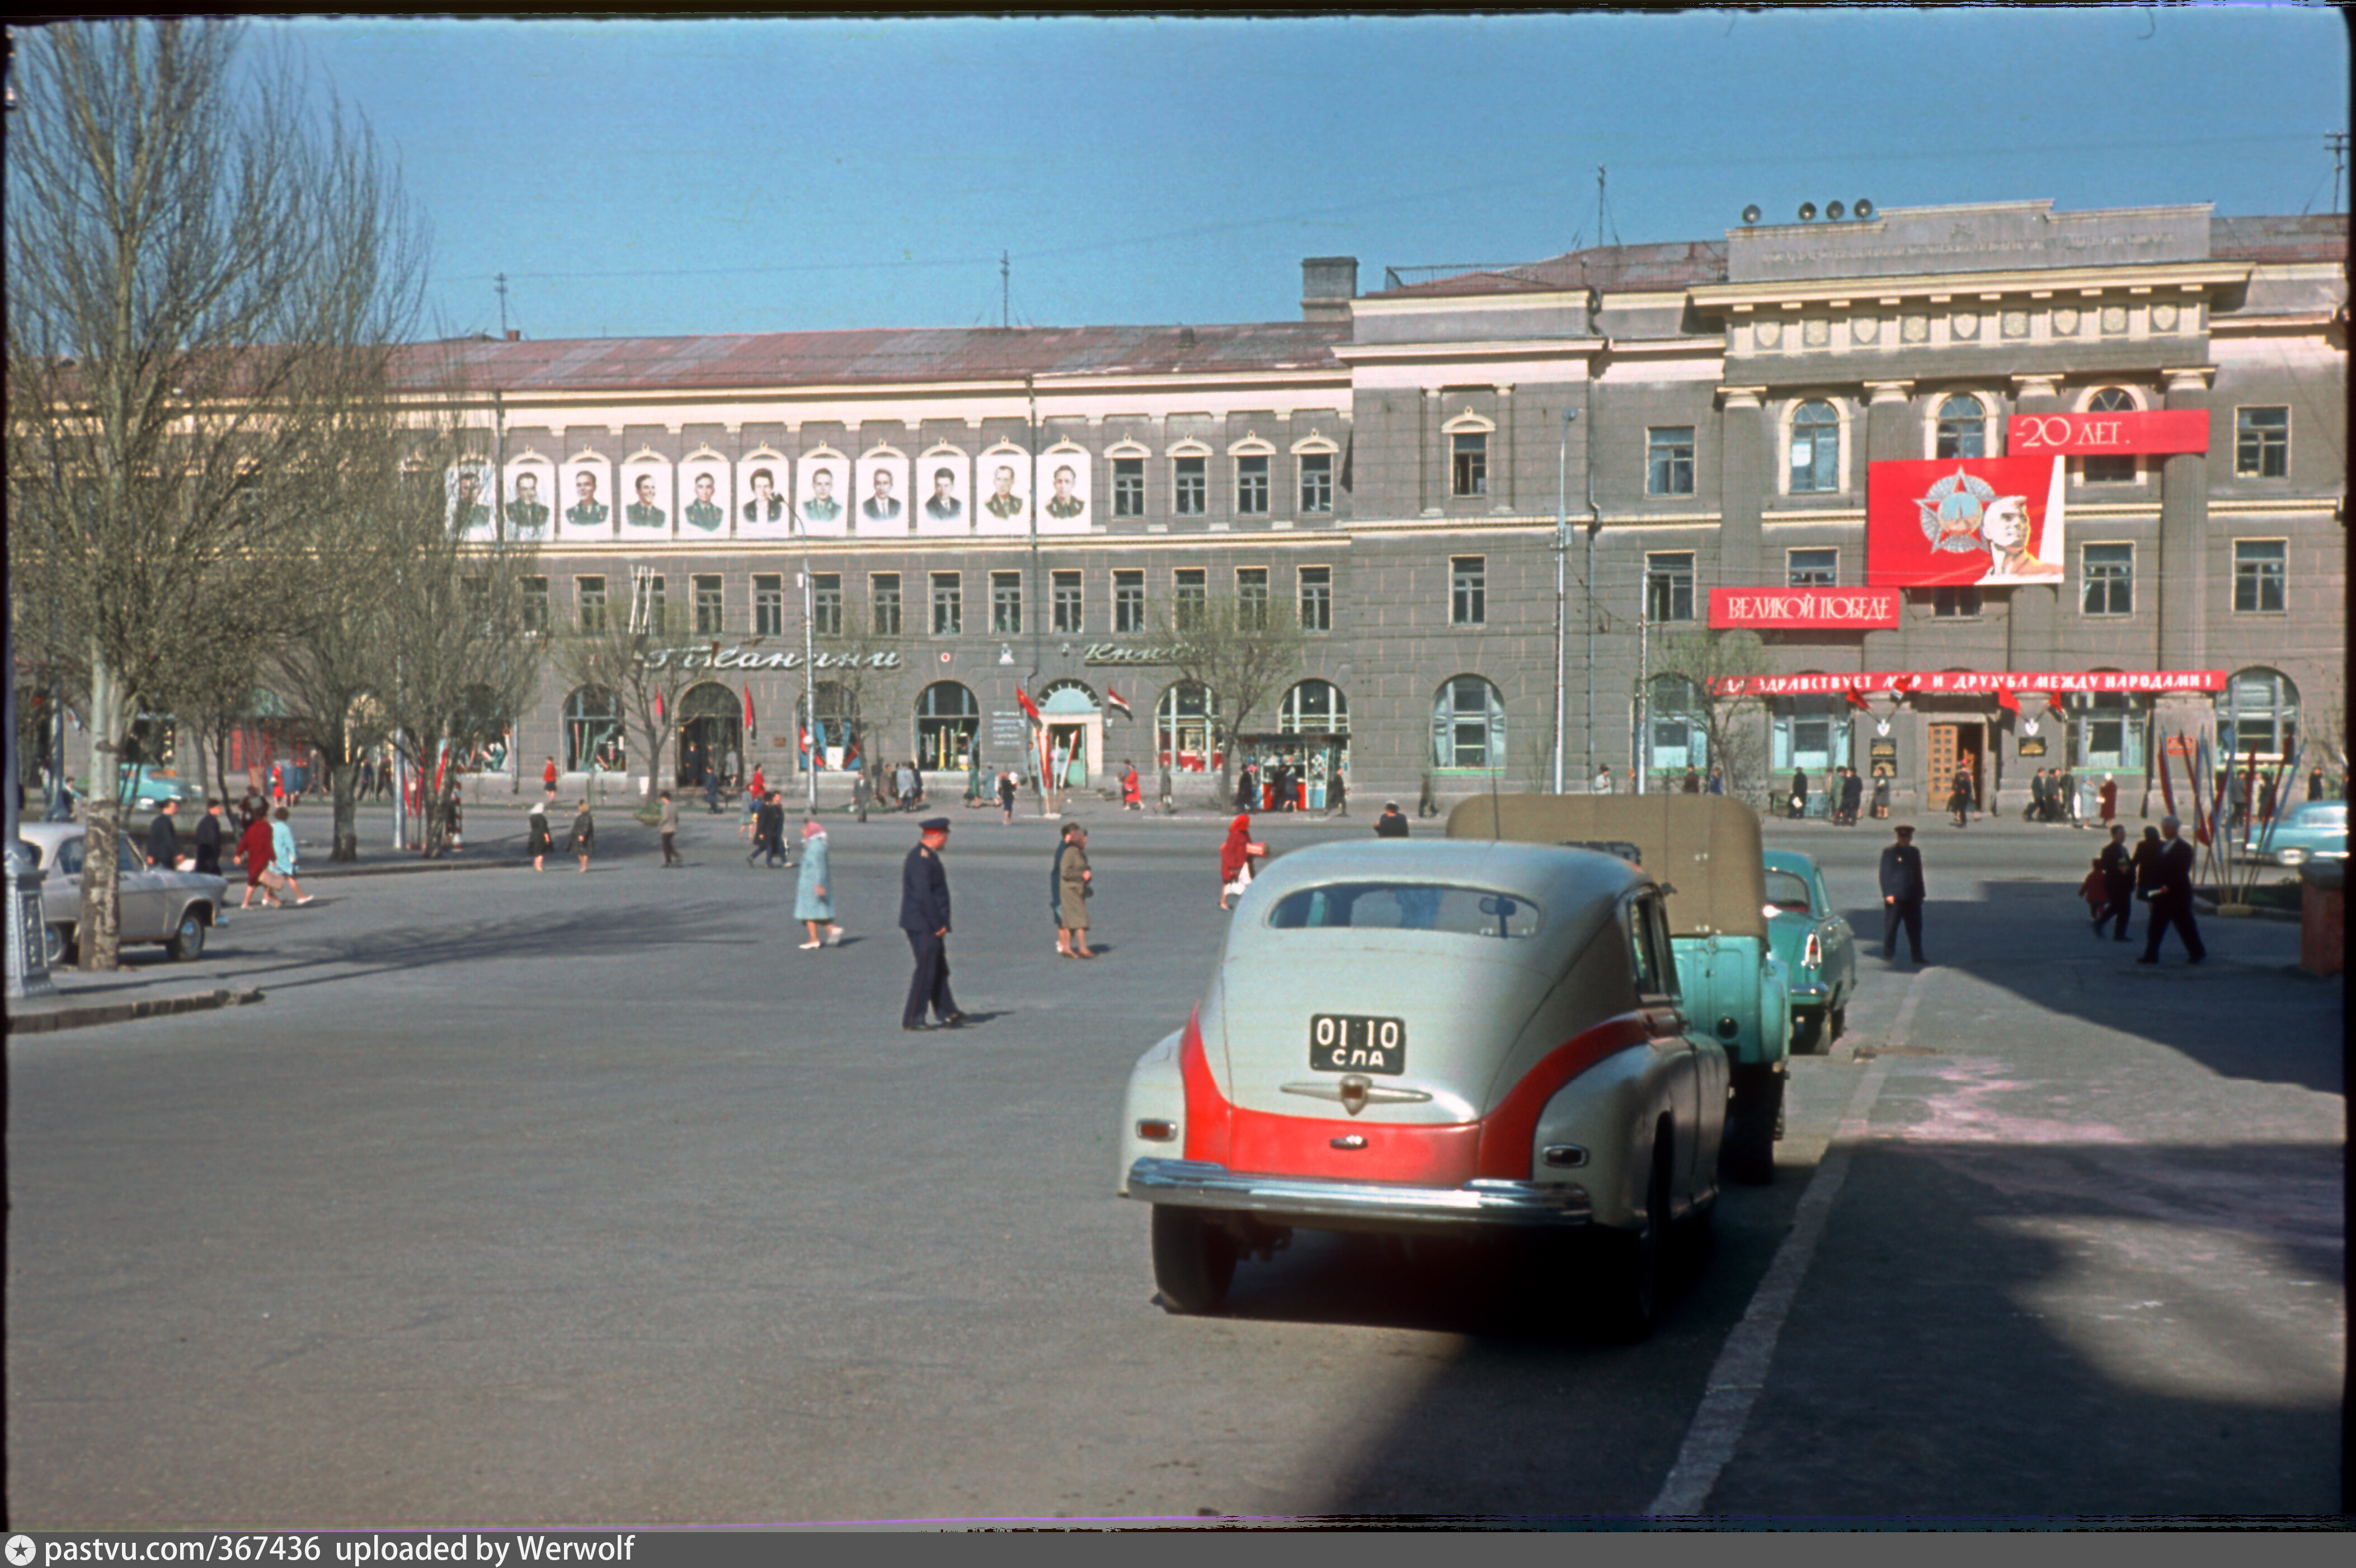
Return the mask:
POLYGON ((1293 1228, 1569 1233, 1588 1311, 1654 1313, 1718 1198, 1727 1054, 1687 1035, 1661 891, 1595 851, 1319 844, 1260 872, 1185 1028, 1138 1059, 1119 1191, 1169 1311, 1293 1228))

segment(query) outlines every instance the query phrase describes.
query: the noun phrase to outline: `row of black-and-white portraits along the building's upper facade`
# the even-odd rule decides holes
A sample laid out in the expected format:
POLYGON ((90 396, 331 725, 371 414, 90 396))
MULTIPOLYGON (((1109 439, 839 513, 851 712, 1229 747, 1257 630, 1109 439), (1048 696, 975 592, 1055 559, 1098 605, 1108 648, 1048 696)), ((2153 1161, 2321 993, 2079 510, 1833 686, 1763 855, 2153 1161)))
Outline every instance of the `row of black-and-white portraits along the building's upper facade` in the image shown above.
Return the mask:
POLYGON ((1088 453, 1032 455, 994 448, 980 457, 893 450, 843 457, 752 453, 737 462, 681 462, 641 453, 620 465, 537 453, 504 465, 459 462, 443 476, 448 521, 471 540, 787 540, 1086 533, 1088 453), (499 495, 504 481, 507 493, 499 495))

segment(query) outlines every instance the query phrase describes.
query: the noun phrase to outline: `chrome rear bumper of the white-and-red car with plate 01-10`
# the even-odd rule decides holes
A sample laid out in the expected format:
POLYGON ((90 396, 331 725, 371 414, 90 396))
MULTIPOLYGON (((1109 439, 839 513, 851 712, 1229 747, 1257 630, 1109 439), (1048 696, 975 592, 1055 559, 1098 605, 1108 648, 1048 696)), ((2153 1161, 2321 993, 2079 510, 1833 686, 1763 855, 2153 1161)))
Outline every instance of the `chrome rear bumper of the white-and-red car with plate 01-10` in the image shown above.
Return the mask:
POLYGON ((1350 1226, 1484 1224, 1576 1228, 1593 1221, 1583 1186, 1560 1181, 1475 1179, 1463 1186, 1399 1186, 1390 1181, 1326 1181, 1235 1172, 1211 1160, 1143 1158, 1129 1167, 1129 1195, 1192 1210, 1225 1210, 1350 1226))

